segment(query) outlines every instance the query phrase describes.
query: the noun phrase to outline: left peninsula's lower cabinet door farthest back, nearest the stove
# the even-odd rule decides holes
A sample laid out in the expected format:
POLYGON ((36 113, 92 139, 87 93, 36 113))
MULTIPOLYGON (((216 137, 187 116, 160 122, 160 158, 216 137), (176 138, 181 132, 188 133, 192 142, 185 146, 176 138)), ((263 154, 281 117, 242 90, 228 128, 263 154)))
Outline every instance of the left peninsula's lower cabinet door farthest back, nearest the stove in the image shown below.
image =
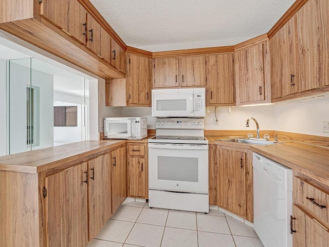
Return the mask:
POLYGON ((111 152, 112 164, 112 214, 127 197, 126 147, 111 152))

